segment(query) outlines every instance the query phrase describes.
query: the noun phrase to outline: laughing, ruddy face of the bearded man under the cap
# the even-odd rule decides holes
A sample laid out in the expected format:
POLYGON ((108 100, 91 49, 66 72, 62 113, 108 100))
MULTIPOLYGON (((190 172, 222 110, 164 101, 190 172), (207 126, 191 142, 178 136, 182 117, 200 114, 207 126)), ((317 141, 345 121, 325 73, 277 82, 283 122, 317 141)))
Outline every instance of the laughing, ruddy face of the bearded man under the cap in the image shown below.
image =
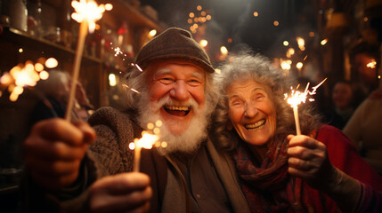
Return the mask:
POLYGON ((159 112, 167 129, 182 134, 190 126, 195 112, 205 105, 205 73, 191 63, 167 60, 148 67, 150 103, 161 106, 159 112))

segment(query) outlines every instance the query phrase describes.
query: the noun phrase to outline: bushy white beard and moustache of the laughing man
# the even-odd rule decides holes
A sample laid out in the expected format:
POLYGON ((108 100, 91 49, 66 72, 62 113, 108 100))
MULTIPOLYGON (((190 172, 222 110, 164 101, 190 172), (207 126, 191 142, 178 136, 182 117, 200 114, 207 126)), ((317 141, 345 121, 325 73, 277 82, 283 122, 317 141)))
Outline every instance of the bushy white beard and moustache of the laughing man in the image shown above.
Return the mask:
MULTIPOLYGON (((174 101, 168 96, 159 99, 155 106, 151 105, 149 101, 149 95, 147 91, 141 92, 141 99, 138 102, 138 122, 142 129, 146 130, 147 123, 155 123, 163 119, 160 115, 160 108, 165 105, 173 105, 174 101)), ((207 138, 207 124, 208 117, 212 110, 208 110, 210 103, 206 101, 206 105, 203 108, 198 108, 198 103, 194 99, 189 99, 182 103, 182 106, 191 106, 193 110, 193 118, 191 119, 190 125, 181 134, 173 134, 168 130, 168 125, 182 125, 182 122, 163 122, 160 129, 160 139, 159 141, 167 142, 167 147, 158 147, 158 153, 162 155, 171 154, 175 152, 191 153, 199 148, 201 142, 207 138)))

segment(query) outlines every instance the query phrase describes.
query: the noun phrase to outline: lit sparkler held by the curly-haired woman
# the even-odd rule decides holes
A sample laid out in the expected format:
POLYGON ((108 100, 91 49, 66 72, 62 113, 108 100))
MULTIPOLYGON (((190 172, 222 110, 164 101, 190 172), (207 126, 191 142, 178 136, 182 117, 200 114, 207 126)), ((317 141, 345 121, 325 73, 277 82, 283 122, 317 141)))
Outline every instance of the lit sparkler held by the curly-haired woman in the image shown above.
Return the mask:
MULTIPOLYGON (((309 83, 306 85, 304 92, 295 91, 295 90, 293 90, 293 88, 291 88, 290 98, 288 98, 289 95, 287 93, 284 94, 285 99, 287 99, 289 105, 293 107, 293 113, 295 115, 297 135, 301 135, 300 121, 298 119, 298 105, 301 103, 305 103, 308 95, 313 96, 314 94, 316 94, 317 88, 319 88, 321 86, 321 84, 324 83, 325 81, 326 81, 326 78, 321 83, 312 87, 312 89, 313 89, 312 91, 308 90, 309 89, 309 83)), ((314 99, 309 99, 309 101, 314 101, 314 99)))

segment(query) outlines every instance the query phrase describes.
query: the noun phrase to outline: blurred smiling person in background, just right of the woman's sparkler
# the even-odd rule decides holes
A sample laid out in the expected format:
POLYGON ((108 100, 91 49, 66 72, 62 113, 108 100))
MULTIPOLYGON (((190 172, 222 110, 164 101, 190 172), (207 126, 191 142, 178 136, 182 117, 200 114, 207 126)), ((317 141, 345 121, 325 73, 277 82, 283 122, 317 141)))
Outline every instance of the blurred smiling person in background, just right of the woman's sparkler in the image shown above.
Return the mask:
POLYGON ((331 106, 324 113, 324 122, 342 130, 356 107, 352 84, 346 80, 335 83, 331 91, 331 102, 331 106))

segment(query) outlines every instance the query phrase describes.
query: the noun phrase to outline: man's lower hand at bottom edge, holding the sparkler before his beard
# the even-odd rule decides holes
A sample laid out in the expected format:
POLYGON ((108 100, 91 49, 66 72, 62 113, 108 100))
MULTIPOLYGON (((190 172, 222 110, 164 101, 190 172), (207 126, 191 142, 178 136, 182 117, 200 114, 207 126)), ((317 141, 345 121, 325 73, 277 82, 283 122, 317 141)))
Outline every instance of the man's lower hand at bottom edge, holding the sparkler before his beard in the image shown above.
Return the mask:
POLYGON ((90 188, 89 209, 102 212, 144 212, 152 195, 150 178, 138 172, 103 177, 90 188))

